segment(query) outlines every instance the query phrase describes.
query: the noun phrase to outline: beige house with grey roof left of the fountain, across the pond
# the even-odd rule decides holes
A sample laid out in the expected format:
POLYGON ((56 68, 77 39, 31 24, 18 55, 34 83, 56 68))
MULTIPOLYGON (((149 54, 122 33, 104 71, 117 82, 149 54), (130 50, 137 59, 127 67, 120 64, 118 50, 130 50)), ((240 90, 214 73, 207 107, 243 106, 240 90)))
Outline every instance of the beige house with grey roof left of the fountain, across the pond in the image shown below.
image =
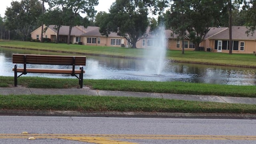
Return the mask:
MULTIPOLYGON (((44 29, 46 26, 44 26, 44 29)), ((31 32, 31 38, 40 40, 42 26, 31 32)), ((68 41, 69 26, 61 26, 59 32, 59 41, 66 43, 68 41)), ((48 26, 43 33, 44 38, 50 38, 51 41, 56 41, 57 30, 54 25, 48 26)), ((117 36, 116 33, 111 33, 108 37, 102 36, 99 32, 99 27, 74 26, 71 31, 70 42, 73 44, 83 44, 91 46, 128 46, 125 38, 117 36)))

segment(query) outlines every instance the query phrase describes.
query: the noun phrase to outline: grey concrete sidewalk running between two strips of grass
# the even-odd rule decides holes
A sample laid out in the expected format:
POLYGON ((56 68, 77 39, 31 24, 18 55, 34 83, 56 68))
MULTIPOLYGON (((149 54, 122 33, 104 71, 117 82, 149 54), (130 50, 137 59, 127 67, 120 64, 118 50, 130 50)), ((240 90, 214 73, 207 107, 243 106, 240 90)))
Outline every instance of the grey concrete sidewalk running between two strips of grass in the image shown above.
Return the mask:
POLYGON ((188 95, 188 94, 164 94, 164 93, 148 93, 148 92, 121 92, 108 90, 90 90, 89 88, 71 88, 71 89, 42 89, 42 88, 0 88, 1 95, 20 95, 20 94, 49 94, 49 95, 89 95, 89 96, 132 96, 140 98, 165 98, 176 100, 190 100, 200 102, 224 102, 237 104, 256 104, 256 98, 228 97, 228 96, 205 96, 205 95, 188 95))

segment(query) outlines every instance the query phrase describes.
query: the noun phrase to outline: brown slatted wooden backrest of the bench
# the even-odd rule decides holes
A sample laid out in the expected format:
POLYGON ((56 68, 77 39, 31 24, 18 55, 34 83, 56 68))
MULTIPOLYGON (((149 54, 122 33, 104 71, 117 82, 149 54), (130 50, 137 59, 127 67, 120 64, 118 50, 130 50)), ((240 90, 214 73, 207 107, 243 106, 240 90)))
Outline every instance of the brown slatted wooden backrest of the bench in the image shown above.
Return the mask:
POLYGON ((49 64, 85 66, 86 56, 54 56, 34 54, 13 54, 14 64, 49 64))

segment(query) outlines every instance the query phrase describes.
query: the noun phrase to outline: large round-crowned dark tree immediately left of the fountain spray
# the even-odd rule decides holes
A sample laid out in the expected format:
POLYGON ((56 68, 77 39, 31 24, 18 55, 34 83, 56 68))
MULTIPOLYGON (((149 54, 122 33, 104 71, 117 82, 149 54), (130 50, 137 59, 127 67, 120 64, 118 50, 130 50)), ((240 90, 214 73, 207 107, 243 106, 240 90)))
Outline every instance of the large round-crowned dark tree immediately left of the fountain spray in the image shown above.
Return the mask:
POLYGON ((116 0, 110 7, 110 13, 102 14, 106 17, 101 20, 100 32, 106 36, 116 32, 136 48, 136 42, 148 28, 150 9, 155 6, 156 0, 116 0))

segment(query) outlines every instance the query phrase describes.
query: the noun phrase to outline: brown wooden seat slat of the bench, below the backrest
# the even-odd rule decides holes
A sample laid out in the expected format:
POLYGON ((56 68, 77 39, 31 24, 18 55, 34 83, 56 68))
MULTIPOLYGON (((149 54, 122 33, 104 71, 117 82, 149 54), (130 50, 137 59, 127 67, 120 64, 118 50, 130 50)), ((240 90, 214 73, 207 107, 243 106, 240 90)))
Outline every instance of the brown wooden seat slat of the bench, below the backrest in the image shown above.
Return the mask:
MULTIPOLYGON (((12 69, 14 71, 14 68, 12 69)), ((24 72, 23 68, 17 68, 17 72, 24 72)), ((45 68, 26 68, 30 73, 48 73, 48 74, 72 74, 70 69, 45 69, 45 68)), ((75 74, 80 74, 81 70, 75 70, 75 74)), ((84 71, 85 73, 85 71, 84 71)))

